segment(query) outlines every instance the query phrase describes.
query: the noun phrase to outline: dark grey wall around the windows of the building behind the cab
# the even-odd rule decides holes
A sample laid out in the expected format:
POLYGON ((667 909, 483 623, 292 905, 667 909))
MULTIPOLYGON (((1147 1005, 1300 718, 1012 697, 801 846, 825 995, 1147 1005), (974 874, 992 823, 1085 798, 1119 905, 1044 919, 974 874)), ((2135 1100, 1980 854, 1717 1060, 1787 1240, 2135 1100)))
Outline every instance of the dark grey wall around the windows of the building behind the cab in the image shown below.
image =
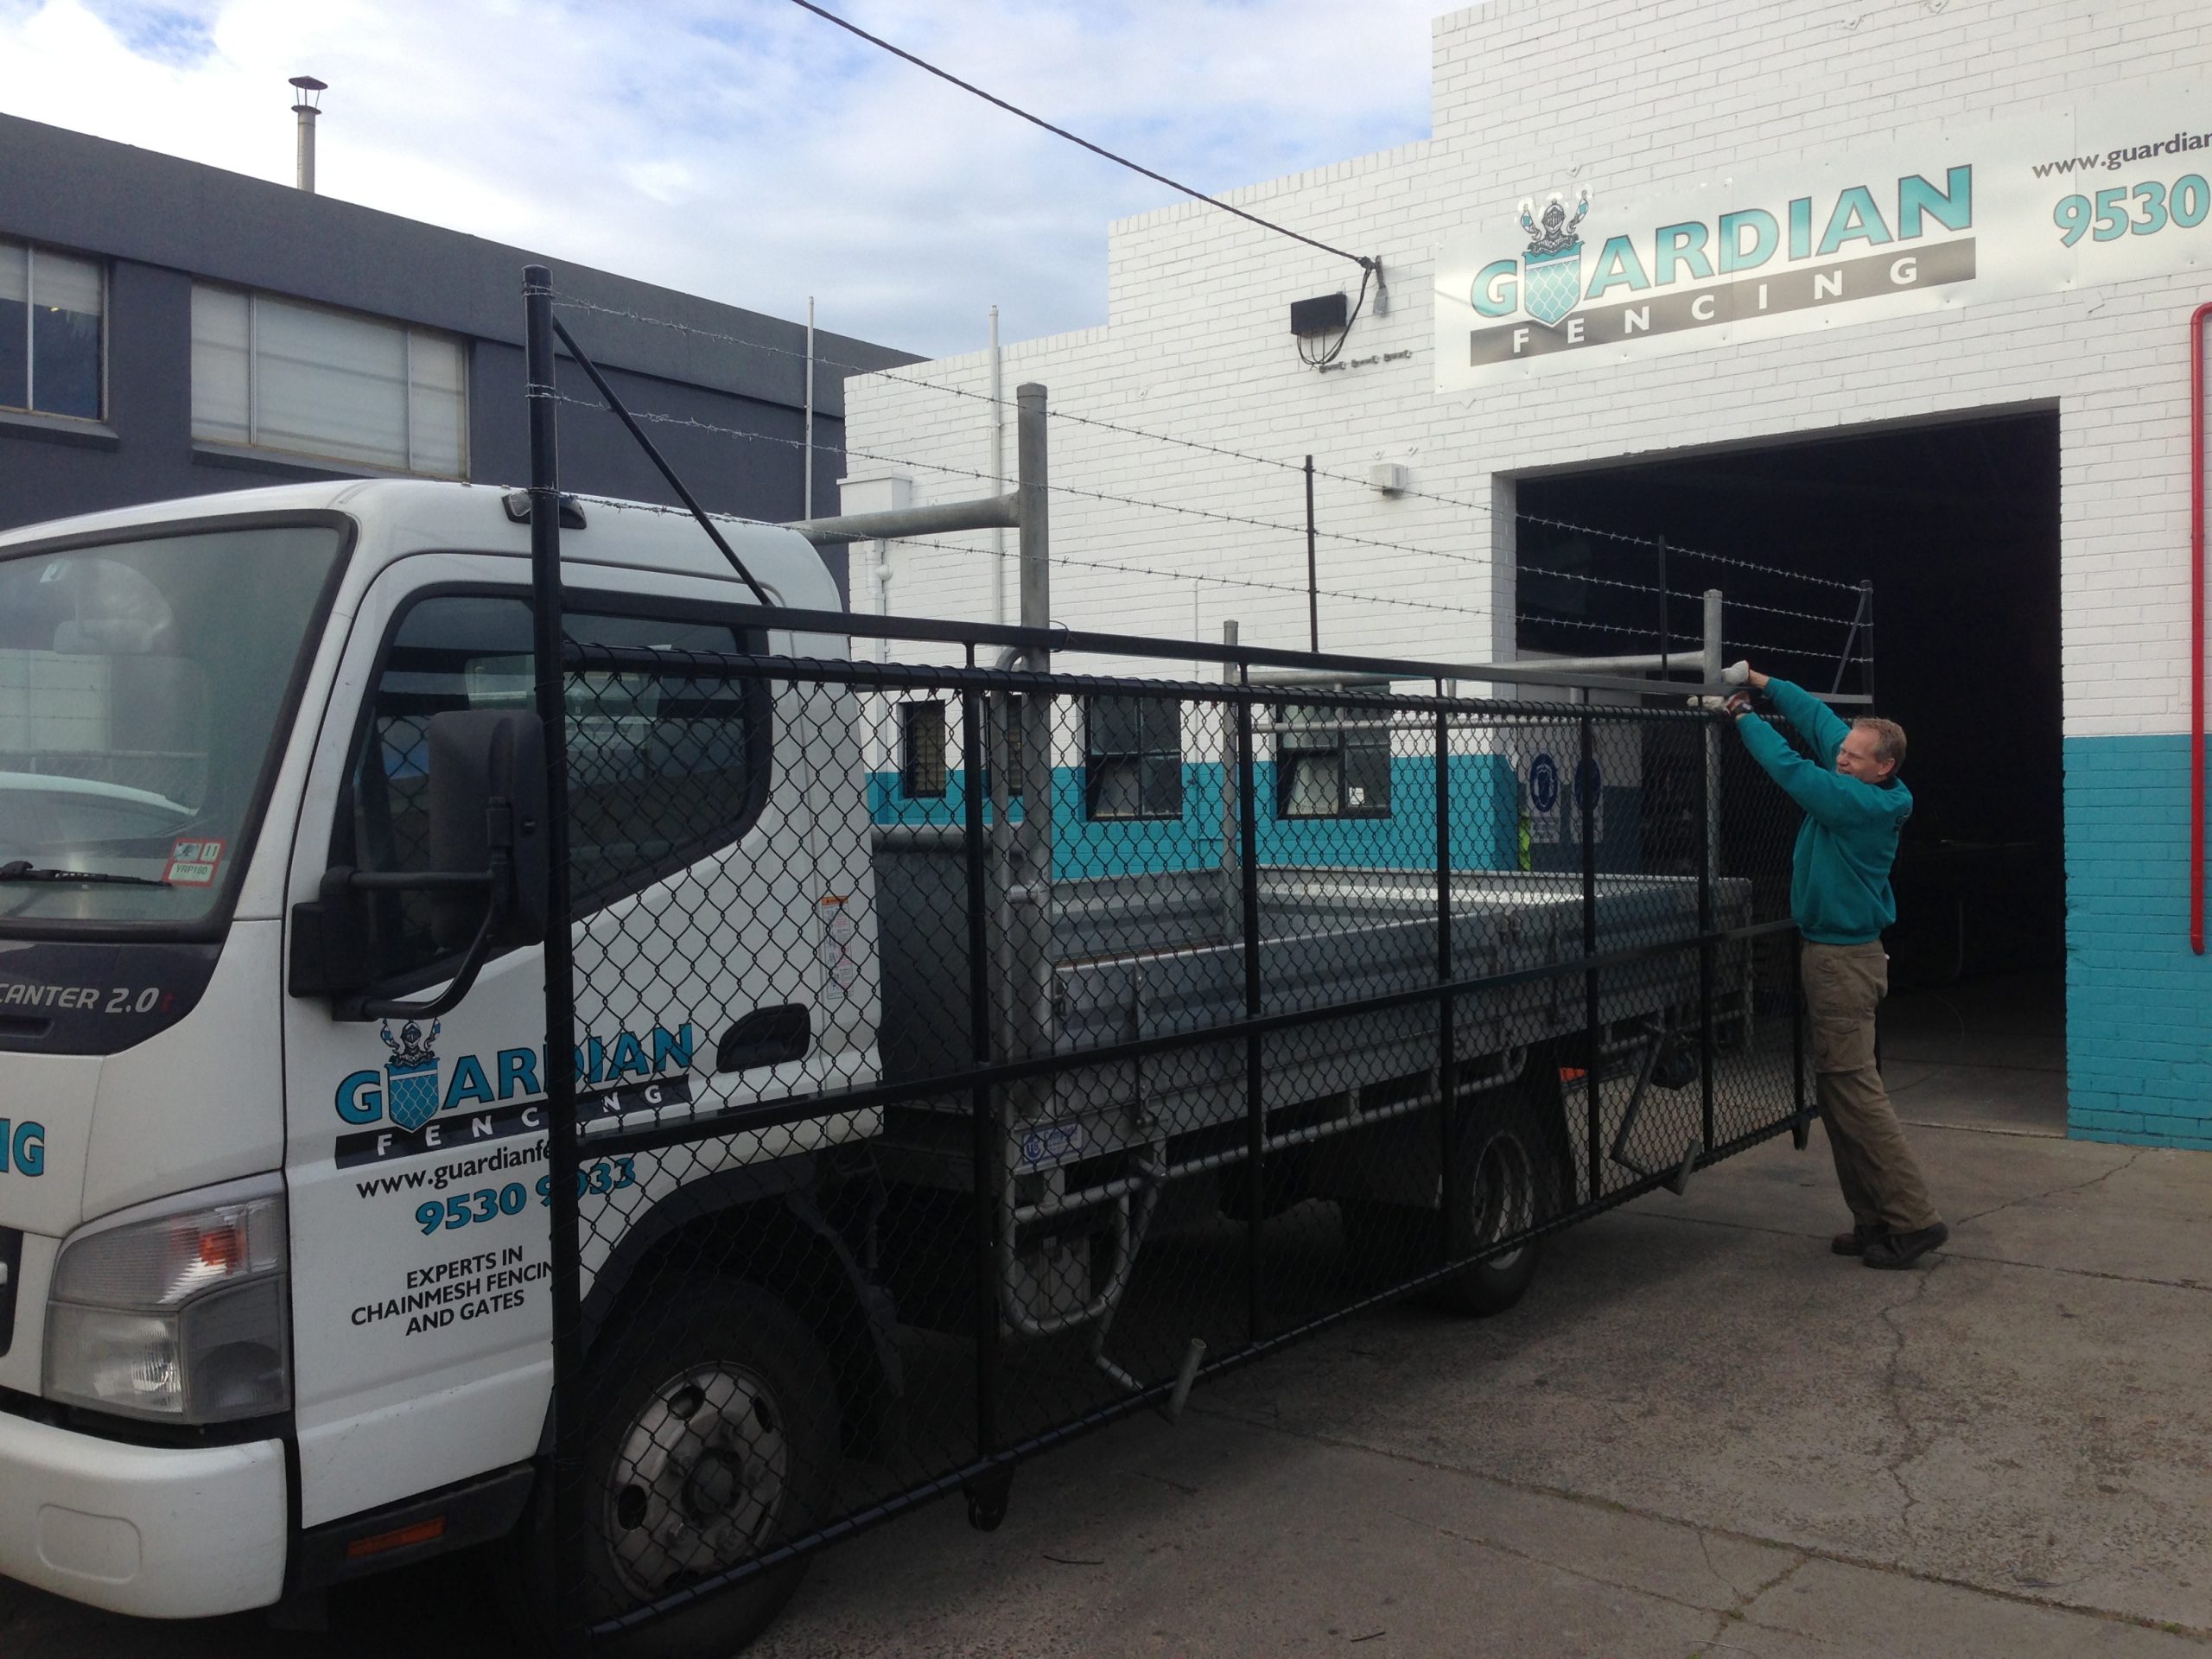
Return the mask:
MULTIPOLYGON (((531 263, 551 265, 566 296, 684 325, 562 312, 633 409, 743 434, 648 425, 706 507, 765 520, 801 513, 801 323, 11 115, 0 115, 0 237, 108 261, 106 420, 0 414, 0 526, 354 476, 192 445, 195 276, 469 336, 471 478, 522 482, 522 268, 531 263)), ((827 332, 816 334, 816 356, 814 511, 832 513, 845 469, 845 369, 830 363, 876 369, 918 358, 827 332)), ((562 389, 593 396, 573 367, 562 389)), ((613 416, 564 405, 560 422, 568 489, 675 502, 613 416)), ((843 557, 830 562, 843 588, 843 557)))

